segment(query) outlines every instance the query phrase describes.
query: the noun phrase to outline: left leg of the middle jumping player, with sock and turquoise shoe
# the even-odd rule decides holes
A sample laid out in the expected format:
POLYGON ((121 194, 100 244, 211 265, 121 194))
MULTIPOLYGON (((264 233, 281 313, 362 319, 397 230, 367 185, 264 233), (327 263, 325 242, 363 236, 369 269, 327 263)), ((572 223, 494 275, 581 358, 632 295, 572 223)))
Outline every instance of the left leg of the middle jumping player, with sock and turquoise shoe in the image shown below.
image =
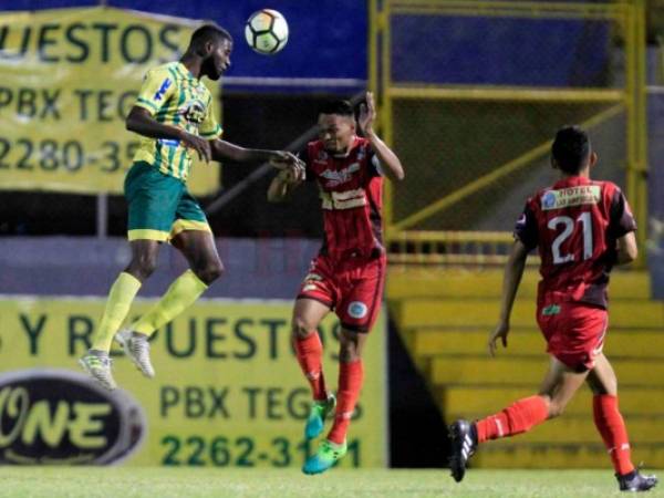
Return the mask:
POLYGON ((304 425, 304 438, 313 439, 322 432, 325 418, 334 409, 335 398, 325 387, 323 344, 318 326, 330 308, 313 299, 298 299, 291 321, 291 341, 302 373, 309 381, 313 402, 304 425))

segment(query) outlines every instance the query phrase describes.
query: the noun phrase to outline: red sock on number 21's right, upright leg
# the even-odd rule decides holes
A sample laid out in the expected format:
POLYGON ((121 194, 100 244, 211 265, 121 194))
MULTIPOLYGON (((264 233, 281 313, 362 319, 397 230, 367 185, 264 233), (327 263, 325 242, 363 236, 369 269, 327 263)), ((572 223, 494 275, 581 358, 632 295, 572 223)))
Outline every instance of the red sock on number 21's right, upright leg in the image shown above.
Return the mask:
POLYGON ((634 470, 625 422, 618 409, 618 396, 600 394, 592 398, 595 426, 604 439, 616 474, 623 476, 634 470))

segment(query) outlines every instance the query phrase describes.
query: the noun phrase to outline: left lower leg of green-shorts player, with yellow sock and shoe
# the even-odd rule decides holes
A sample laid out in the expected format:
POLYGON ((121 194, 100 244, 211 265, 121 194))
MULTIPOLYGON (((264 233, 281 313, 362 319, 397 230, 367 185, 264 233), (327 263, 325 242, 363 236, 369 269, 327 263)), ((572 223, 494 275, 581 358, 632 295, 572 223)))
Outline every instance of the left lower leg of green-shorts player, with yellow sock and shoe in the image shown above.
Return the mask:
POLYGON ((112 361, 108 355, 111 343, 129 308, 141 284, 155 270, 159 245, 155 240, 133 240, 132 261, 118 276, 108 293, 106 308, 91 349, 79 360, 79 363, 102 386, 114 390, 117 385, 111 372, 112 361))

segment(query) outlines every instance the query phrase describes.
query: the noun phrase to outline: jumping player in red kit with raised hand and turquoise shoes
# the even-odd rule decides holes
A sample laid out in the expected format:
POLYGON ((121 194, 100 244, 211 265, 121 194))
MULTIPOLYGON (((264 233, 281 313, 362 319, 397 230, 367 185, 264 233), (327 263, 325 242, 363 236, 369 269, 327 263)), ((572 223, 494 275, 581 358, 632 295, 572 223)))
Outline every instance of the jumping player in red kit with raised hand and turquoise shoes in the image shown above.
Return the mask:
MULTIPOLYGON (((311 262, 295 300, 292 340, 298 362, 309 380, 313 404, 304 428, 307 439, 323 430, 335 405, 332 429, 302 470, 320 474, 346 453, 346 432, 362 387, 362 349, 381 308, 385 280, 382 242, 383 177, 401 180, 398 157, 373 129, 373 95, 366 94, 357 122, 346 101, 331 102, 319 114, 319 139, 302 155, 305 177, 315 180, 322 200, 325 239, 311 262), (356 135, 356 127, 365 138, 356 135), (339 391, 335 401, 325 386, 323 347, 317 332, 334 310, 341 321, 339 391)), ((295 170, 279 174, 268 199, 283 200, 301 184, 295 170)))

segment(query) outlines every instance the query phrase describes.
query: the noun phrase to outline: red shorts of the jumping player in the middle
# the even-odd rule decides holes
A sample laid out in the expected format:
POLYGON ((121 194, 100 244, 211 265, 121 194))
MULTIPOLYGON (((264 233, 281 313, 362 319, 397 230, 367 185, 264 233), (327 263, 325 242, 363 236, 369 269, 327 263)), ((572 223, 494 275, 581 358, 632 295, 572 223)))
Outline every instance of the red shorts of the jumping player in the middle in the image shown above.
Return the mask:
POLYGON ((320 301, 334 310, 344 329, 369 332, 381 311, 386 261, 384 255, 344 259, 318 256, 298 299, 320 301))

